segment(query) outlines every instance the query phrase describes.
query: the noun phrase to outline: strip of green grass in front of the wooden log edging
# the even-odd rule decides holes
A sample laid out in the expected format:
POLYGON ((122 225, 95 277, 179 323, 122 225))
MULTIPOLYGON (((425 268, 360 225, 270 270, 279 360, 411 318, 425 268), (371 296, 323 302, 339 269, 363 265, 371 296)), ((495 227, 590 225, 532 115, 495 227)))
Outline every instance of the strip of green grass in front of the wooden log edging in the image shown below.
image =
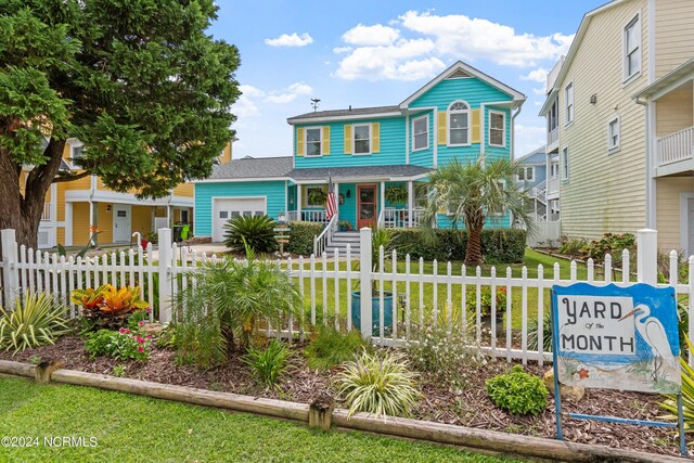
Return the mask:
POLYGON ((120 393, 0 376, 0 436, 39 447, 0 447, 0 461, 113 462, 509 462, 450 447, 360 433, 316 432, 293 422, 120 393), (44 447, 43 437, 90 437, 95 447, 44 447))

